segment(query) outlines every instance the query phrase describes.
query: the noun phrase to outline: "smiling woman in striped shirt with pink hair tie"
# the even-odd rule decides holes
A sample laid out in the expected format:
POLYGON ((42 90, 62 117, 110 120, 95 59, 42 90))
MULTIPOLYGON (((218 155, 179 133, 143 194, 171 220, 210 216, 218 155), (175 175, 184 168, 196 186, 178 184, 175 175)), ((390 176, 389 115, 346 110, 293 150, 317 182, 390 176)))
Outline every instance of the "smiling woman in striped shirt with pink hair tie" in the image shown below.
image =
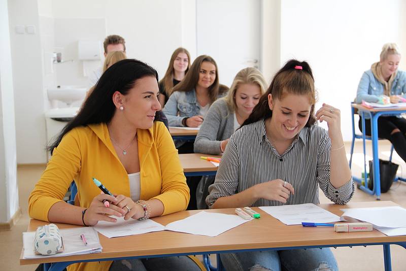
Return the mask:
MULTIPOLYGON (((346 204, 355 186, 340 129, 340 111, 314 113, 312 70, 289 60, 252 114, 231 136, 206 202, 210 208, 319 204, 318 188, 346 204), (318 125, 325 121, 328 131, 318 125)), ((270 233, 272 234, 272 232, 270 233)), ((221 254, 227 270, 338 270, 329 248, 221 254)))

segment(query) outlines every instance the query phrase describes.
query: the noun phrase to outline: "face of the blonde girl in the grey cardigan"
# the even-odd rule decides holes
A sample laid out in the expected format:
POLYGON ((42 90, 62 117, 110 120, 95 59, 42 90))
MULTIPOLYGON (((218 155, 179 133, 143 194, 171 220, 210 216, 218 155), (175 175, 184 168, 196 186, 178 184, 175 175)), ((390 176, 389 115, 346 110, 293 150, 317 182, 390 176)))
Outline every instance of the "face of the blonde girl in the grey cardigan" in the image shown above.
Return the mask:
POLYGON ((261 89, 257 84, 241 84, 235 91, 236 111, 240 116, 247 118, 258 104, 261 89))

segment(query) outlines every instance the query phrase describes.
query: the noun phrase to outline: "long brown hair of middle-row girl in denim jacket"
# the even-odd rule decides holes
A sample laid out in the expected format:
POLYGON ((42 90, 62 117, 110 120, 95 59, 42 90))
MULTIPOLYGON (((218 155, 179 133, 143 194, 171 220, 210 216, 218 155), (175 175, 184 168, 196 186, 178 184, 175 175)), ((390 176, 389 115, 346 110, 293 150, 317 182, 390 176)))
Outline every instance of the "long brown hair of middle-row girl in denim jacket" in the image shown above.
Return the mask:
POLYGON ((185 75, 185 78, 183 78, 183 80, 179 84, 177 84, 173 89, 169 91, 166 90, 168 96, 171 96, 171 94, 175 91, 187 92, 195 88, 197 82, 199 81, 201 63, 205 61, 212 63, 216 67, 216 79, 214 80, 213 84, 209 87, 209 95, 211 100, 210 102, 214 103, 214 101, 217 99, 218 94, 227 91, 228 88, 227 89, 225 89, 224 87, 220 88, 219 72, 216 61, 214 61, 214 59, 208 55, 200 55, 196 57, 196 59, 193 61, 193 64, 190 66, 189 72, 185 75))

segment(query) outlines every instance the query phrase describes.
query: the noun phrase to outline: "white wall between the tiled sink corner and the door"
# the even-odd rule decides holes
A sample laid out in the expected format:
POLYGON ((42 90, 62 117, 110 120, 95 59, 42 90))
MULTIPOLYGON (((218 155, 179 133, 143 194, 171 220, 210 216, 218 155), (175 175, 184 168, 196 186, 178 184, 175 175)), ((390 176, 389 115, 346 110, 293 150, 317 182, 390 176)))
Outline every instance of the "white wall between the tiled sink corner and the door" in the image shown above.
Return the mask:
MULTIPOLYGON (((183 46, 183 40, 187 45, 193 42, 193 37, 182 39, 182 33, 190 33, 190 27, 182 27, 182 19, 193 18, 190 12, 193 4, 182 0, 56 0, 52 2, 52 7, 55 20, 104 18, 106 35, 122 36, 126 42, 127 56, 148 62, 162 77, 173 51, 183 46), (183 16, 182 9, 190 14, 183 16)), ((62 79, 58 75, 59 80, 62 79)))

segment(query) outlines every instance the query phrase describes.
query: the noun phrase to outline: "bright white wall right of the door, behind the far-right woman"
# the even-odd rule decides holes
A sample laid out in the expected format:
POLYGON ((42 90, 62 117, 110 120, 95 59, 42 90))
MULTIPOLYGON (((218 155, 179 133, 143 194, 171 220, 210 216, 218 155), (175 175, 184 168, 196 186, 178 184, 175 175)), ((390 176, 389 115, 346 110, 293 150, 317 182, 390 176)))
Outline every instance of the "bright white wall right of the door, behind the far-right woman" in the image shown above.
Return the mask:
MULTIPOLYGON (((328 103, 341 110, 345 141, 351 140, 350 102, 362 73, 379 61, 384 43, 395 42, 406 52, 399 28, 404 14, 401 0, 281 1, 281 65, 293 57, 309 61, 317 107, 328 103)), ((403 69, 404 63, 403 57, 403 69)))

